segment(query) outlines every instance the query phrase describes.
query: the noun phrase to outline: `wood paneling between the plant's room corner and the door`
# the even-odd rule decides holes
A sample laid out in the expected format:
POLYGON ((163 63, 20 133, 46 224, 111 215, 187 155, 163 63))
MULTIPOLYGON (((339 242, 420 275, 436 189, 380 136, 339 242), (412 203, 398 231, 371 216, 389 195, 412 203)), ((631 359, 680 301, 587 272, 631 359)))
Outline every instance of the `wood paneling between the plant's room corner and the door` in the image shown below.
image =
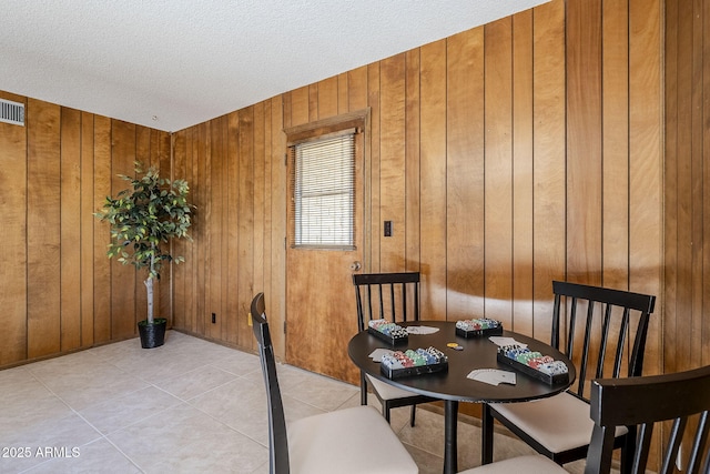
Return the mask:
MULTIPOLYGON (((174 172, 189 181, 197 206, 194 240, 179 245, 186 262, 174 273, 178 329, 251 349, 246 314, 255 290, 268 294, 272 322, 284 313, 282 117, 277 97, 174 135, 174 172)), ((283 333, 273 339, 283 349, 283 333)))

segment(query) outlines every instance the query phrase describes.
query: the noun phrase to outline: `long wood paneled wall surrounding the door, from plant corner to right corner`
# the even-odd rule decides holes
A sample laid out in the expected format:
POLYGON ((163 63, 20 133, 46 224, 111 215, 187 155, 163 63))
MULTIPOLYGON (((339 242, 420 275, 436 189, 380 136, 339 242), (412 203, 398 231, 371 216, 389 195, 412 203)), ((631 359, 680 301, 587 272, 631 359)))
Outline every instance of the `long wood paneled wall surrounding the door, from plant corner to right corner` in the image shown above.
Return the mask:
POLYGON ((660 295, 661 18, 660 0, 556 0, 176 133, 200 230, 175 325, 251 347, 264 284, 287 317, 282 129, 363 108, 366 269, 420 270, 425 314, 547 340, 554 279, 660 295))

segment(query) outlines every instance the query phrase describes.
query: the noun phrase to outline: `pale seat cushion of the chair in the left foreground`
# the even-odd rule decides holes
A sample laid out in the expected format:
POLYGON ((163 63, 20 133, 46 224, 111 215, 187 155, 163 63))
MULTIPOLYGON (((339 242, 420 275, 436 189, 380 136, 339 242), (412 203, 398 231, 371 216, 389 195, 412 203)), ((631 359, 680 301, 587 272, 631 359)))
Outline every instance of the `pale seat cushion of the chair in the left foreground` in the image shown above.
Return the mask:
POLYGON ((294 474, 418 473, 397 435, 372 406, 301 418, 287 432, 294 474))

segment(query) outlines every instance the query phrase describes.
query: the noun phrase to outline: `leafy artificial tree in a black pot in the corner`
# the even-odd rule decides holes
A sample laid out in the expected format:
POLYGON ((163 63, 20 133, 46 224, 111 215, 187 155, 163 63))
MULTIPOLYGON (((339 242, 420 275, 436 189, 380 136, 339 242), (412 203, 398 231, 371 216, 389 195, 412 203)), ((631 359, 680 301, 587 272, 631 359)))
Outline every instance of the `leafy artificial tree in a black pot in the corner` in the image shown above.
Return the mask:
POLYGON ((103 212, 94 215, 111 224, 111 243, 106 254, 118 256, 119 262, 132 264, 136 270, 145 269, 148 278, 143 282, 148 292, 148 315, 138 323, 141 346, 158 347, 165 337, 165 317, 153 316, 153 282, 160 280, 160 271, 165 262, 183 262, 182 256, 172 256, 170 241, 190 239, 191 224, 187 203, 190 188, 184 180, 160 178, 154 168, 143 172, 141 163, 135 163, 135 178, 119 174, 130 183, 130 188, 115 198, 106 196, 103 212))

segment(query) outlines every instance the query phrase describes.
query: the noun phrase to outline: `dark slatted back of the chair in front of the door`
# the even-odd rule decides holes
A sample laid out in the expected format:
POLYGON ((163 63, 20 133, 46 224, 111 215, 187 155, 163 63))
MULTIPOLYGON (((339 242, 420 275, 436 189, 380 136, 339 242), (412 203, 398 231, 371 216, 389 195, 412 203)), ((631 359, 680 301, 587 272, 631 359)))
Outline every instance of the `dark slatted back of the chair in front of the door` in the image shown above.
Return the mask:
POLYGON ((419 272, 353 274, 357 326, 371 320, 419 321, 419 272))

